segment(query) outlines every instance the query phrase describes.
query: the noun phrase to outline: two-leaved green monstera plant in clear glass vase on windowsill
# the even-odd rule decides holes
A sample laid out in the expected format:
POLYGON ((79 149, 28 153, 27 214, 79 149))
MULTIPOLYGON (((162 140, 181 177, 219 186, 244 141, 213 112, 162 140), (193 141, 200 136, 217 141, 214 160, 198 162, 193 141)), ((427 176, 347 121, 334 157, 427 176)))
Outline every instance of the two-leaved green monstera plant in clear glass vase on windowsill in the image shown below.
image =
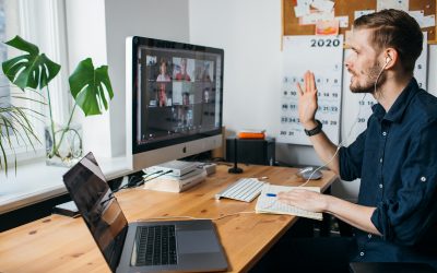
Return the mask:
MULTIPOLYGON (((49 83, 59 73, 61 67, 45 54, 39 54, 37 46, 20 36, 15 36, 5 44, 26 54, 4 61, 2 63, 4 75, 23 92, 32 88, 45 95, 49 117, 45 132, 47 163, 73 165, 82 156, 82 136, 78 128, 71 123, 74 110, 79 106, 86 117, 99 115, 108 108, 108 100, 114 97, 108 67, 102 66, 94 69, 91 58, 78 64, 69 76, 70 93, 74 99, 70 118, 66 124, 56 124, 51 110, 49 83), (73 141, 74 146, 67 143, 68 141, 73 141)), ((27 130, 27 132, 32 132, 31 135, 36 138, 33 131, 27 130)), ((5 154, 3 153, 2 156, 5 162, 5 154)))

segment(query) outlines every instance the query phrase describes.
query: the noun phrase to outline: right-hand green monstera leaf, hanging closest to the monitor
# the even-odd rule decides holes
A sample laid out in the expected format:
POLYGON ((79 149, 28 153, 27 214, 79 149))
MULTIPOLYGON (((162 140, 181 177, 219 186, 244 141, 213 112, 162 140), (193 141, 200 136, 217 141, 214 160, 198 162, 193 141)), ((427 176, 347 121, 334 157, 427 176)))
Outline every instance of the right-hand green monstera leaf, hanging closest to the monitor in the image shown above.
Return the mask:
POLYGON ((93 61, 87 58, 81 61, 69 78, 70 91, 85 116, 102 114, 108 108, 108 99, 114 97, 108 75, 108 67, 94 70, 93 61))

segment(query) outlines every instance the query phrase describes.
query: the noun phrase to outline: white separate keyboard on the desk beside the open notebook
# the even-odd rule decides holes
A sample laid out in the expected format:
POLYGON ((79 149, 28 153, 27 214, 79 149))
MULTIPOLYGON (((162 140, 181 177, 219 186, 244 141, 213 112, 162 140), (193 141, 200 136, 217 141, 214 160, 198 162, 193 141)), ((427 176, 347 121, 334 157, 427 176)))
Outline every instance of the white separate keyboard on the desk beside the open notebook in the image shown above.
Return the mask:
POLYGON ((228 198, 244 202, 251 202, 261 193, 264 182, 257 178, 240 178, 223 191, 215 194, 215 199, 228 198))

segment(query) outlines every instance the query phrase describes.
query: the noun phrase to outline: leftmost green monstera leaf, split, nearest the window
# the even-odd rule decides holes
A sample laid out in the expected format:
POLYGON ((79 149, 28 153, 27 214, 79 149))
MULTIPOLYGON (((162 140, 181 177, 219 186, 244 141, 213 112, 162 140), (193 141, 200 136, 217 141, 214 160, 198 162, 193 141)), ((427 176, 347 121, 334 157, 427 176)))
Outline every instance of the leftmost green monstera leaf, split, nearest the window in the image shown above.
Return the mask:
POLYGON ((4 75, 22 90, 26 87, 39 87, 42 90, 61 69, 58 63, 52 62, 46 55, 39 55, 37 46, 24 40, 20 36, 15 36, 5 44, 28 52, 2 63, 4 75))

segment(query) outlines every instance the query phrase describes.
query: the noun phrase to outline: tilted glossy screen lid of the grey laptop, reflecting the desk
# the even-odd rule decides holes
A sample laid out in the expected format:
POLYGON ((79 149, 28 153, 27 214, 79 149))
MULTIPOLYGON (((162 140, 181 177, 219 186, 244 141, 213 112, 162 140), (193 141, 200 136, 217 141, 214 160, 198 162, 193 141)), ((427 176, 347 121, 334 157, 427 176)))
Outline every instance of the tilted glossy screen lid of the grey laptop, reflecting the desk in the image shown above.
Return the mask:
POLYGON ((128 222, 92 153, 66 175, 63 182, 109 268, 119 262, 128 222))

